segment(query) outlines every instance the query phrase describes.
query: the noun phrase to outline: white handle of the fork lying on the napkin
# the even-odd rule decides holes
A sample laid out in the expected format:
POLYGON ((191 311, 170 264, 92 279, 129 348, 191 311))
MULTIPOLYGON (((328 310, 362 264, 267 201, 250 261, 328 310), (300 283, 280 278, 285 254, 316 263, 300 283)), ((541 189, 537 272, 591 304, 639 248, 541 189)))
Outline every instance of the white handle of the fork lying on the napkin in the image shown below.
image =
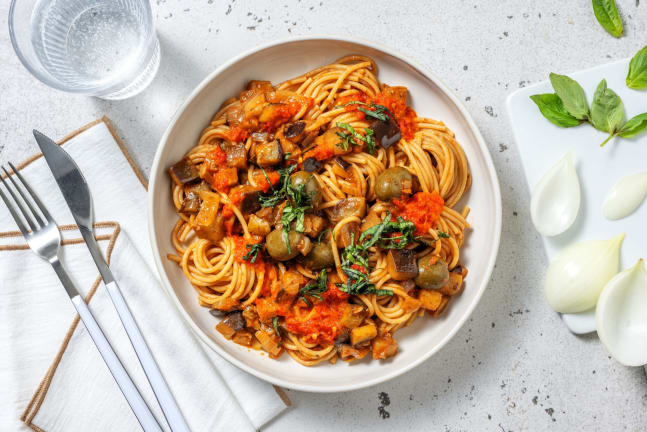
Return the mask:
POLYGON ((128 405, 130 405, 130 408, 135 413, 135 417, 137 417, 139 424, 145 432, 162 432, 162 428, 159 423, 157 423, 157 420, 150 411, 150 408, 148 408, 148 405, 146 405, 144 398, 142 398, 142 395, 139 393, 139 390, 135 386, 135 383, 133 383, 130 375, 128 375, 128 372, 121 364, 121 361, 119 361, 119 358, 112 349, 110 342, 106 339, 103 330, 101 330, 101 327, 99 327, 99 324, 94 319, 94 315, 92 315, 92 312, 88 309, 88 305, 78 294, 72 297, 72 303, 81 316, 81 320, 83 321, 85 328, 88 330, 90 337, 94 341, 94 344, 101 353, 103 361, 108 366, 108 369, 110 369, 110 373, 115 378, 121 392, 126 397, 128 405))

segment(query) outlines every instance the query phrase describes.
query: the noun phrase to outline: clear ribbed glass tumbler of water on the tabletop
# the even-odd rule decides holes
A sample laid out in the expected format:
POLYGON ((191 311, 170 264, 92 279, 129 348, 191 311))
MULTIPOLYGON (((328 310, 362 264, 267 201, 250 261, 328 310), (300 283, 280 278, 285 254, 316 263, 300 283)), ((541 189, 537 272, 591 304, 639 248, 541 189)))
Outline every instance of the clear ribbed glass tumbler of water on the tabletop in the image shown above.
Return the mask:
POLYGON ((125 99, 159 67, 148 0, 12 0, 9 34, 22 64, 66 92, 125 99))

